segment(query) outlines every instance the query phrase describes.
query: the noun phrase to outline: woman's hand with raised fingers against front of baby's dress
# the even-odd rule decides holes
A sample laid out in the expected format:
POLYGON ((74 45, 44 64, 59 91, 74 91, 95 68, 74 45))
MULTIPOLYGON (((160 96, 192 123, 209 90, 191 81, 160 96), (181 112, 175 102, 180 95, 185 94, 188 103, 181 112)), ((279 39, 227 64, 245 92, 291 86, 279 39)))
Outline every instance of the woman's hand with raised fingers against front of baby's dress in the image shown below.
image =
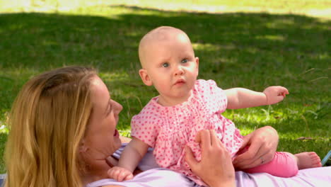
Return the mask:
POLYGON ((201 130, 195 138, 201 147, 200 162, 194 158, 192 150, 185 147, 185 160, 192 172, 211 187, 236 186, 231 155, 214 130, 201 130))

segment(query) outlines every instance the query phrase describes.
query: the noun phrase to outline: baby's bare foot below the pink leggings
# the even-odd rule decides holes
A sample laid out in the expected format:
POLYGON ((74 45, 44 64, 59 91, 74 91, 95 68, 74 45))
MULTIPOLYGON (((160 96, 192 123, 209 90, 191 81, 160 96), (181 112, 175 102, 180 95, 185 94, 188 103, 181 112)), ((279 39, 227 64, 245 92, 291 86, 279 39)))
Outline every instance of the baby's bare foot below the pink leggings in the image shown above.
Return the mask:
POLYGON ((320 167, 320 157, 315 152, 301 152, 294 154, 298 162, 298 169, 320 167))

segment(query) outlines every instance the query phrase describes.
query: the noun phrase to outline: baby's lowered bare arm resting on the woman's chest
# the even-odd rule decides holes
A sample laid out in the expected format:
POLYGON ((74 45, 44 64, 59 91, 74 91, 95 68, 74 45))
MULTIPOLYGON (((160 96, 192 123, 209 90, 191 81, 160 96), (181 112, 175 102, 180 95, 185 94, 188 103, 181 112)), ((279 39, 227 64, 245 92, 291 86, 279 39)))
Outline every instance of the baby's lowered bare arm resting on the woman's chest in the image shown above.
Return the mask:
POLYGON ((108 170, 108 176, 117 181, 126 181, 133 178, 133 171, 147 152, 149 145, 133 137, 121 154, 118 166, 108 170))

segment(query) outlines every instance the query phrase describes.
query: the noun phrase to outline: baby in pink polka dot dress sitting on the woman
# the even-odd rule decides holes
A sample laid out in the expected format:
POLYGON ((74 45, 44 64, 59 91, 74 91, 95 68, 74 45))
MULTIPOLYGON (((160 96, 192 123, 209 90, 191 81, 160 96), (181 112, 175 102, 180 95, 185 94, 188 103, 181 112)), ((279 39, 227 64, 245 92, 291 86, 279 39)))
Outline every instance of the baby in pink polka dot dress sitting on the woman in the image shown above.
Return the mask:
MULTIPOLYGON (((197 80, 199 58, 194 56, 190 38, 178 28, 162 26, 144 35, 139 44, 139 60, 142 81, 147 86, 153 85, 160 95, 132 118, 132 141, 124 149, 118 166, 108 171, 117 181, 132 179, 132 171, 147 149, 153 147, 159 166, 185 174, 205 186, 185 162, 185 145, 192 149, 197 160, 201 159, 195 135, 199 130, 213 129, 234 158, 243 136, 221 113, 226 108, 271 105, 289 94, 282 86, 270 86, 263 92, 242 88, 222 90, 215 81, 197 80)), ((295 155, 277 152, 272 162, 263 162, 262 159, 262 165, 247 171, 290 177, 298 169, 320 166, 315 152, 295 155)))

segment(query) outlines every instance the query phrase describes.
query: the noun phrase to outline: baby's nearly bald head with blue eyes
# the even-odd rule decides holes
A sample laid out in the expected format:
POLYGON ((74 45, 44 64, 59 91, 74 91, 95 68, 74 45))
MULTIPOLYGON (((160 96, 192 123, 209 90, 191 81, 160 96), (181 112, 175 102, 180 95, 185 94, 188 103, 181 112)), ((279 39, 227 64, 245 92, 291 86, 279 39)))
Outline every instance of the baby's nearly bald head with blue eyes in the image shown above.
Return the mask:
POLYGON ((141 79, 147 86, 155 86, 161 97, 185 97, 197 79, 199 58, 194 56, 190 38, 178 28, 161 26, 144 35, 139 60, 141 79), (183 94, 169 94, 170 90, 183 94))

